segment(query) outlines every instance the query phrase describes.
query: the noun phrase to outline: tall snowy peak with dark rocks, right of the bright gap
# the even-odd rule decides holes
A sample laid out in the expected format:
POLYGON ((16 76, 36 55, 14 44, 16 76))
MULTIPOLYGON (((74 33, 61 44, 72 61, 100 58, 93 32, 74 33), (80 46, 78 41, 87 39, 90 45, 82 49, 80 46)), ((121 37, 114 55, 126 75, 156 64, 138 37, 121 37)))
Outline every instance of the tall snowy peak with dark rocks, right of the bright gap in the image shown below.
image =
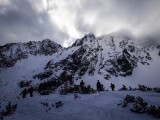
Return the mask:
POLYGON ((100 37, 95 37, 94 34, 85 35, 50 60, 44 72, 34 77, 51 80, 67 71, 75 83, 83 79, 95 87, 98 79, 107 85, 107 80, 134 76, 134 71, 139 70, 137 68, 147 68, 159 59, 157 47, 143 47, 134 41, 134 37, 128 33, 112 33, 100 37))

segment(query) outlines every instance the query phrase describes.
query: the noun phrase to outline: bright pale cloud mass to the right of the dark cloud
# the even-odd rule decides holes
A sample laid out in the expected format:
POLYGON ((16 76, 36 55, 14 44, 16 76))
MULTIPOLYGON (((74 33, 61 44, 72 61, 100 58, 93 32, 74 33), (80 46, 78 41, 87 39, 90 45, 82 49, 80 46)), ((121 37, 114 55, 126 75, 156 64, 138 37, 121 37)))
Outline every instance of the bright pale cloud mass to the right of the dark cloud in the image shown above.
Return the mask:
MULTIPOLYGON (((58 13, 53 20, 72 31, 70 38, 93 32, 97 36, 127 29, 136 36, 160 31, 159 0, 53 0, 58 13), (57 20, 58 19, 58 20, 57 20), (65 19, 65 22, 63 20, 65 19)), ((151 34, 152 33, 152 34, 151 34)))

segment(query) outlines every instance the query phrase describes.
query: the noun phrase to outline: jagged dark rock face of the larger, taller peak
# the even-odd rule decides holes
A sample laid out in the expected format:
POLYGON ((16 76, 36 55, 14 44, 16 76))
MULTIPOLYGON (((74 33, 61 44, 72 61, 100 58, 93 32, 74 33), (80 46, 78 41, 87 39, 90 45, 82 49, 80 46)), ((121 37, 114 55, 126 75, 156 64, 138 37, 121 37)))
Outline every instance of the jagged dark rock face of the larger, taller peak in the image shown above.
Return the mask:
MULTIPOLYGON (((149 52, 143 47, 134 45, 132 38, 125 35, 108 35, 96 38, 93 34, 78 39, 71 47, 72 54, 58 62, 51 60, 45 70, 52 70, 59 76, 68 71, 79 79, 84 75, 103 75, 105 79, 111 76, 131 75, 138 63, 149 65, 149 52)), ((53 77, 53 76, 51 76, 53 77)))

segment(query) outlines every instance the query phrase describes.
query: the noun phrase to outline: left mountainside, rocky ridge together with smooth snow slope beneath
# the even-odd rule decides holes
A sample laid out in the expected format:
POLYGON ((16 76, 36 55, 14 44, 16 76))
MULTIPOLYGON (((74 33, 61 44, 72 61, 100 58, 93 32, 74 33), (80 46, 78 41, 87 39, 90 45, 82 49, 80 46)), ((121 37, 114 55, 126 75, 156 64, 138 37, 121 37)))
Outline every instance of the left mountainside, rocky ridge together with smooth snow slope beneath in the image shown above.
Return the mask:
POLYGON ((42 72, 47 62, 63 48, 49 40, 10 43, 0 47, 0 102, 15 99, 21 92, 22 80, 39 84, 32 76, 42 72))

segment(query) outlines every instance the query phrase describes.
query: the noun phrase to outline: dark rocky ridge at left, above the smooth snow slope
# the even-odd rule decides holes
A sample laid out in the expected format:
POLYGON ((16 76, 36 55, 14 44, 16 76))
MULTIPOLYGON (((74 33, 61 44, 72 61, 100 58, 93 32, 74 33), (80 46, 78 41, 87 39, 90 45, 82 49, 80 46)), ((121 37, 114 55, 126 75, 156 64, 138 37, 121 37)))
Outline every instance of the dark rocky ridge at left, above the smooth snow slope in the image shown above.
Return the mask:
POLYGON ((0 46, 0 68, 12 67, 17 60, 28 58, 29 55, 52 55, 62 47, 49 40, 30 41, 27 43, 10 43, 0 46))

